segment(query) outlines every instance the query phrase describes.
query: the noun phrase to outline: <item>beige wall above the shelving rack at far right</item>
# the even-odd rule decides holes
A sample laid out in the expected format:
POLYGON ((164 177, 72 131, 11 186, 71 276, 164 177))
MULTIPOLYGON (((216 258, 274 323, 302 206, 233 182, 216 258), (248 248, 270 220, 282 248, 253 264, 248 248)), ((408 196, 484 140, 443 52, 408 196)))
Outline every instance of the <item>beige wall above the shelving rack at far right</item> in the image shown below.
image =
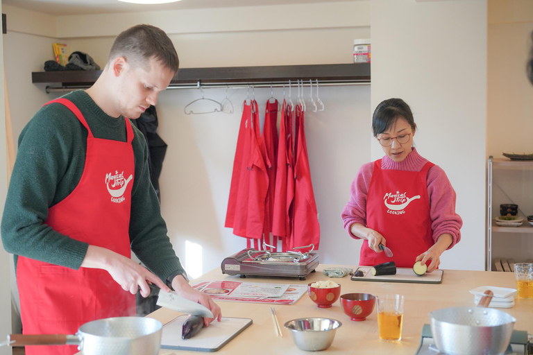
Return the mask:
POLYGON ((532 33, 533 1, 489 1, 487 157, 533 151, 533 85, 525 73, 532 33))

